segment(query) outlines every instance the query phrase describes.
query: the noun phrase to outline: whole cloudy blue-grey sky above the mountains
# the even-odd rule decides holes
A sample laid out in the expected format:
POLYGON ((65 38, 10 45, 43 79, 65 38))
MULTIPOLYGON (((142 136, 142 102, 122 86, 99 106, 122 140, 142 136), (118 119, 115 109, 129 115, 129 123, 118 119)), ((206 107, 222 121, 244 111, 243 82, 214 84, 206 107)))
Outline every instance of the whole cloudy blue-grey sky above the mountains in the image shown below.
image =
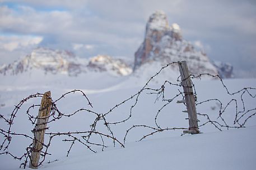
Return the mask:
POLYGON ((133 59, 150 14, 161 9, 183 37, 236 74, 256 77, 256 1, 0 0, 0 64, 37 46, 133 59))

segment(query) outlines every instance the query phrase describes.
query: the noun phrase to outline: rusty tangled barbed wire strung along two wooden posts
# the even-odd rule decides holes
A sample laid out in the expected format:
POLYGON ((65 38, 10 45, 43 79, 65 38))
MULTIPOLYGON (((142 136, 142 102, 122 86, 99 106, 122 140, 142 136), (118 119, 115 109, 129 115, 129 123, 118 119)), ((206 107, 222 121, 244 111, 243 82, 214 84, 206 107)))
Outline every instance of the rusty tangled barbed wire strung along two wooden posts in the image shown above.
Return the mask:
MULTIPOLYGON (((67 156, 68 156, 69 153, 71 152, 73 146, 75 145, 75 143, 82 144, 86 149, 89 149, 91 152, 94 152, 94 153, 96 153, 96 151, 94 149, 92 149, 92 146, 101 147, 102 150, 104 150, 104 148, 108 147, 105 144, 106 140, 112 140, 114 146, 116 144, 119 144, 120 147, 124 147, 125 141, 128 138, 128 134, 132 133, 132 130, 137 129, 137 128, 146 128, 146 129, 151 130, 150 133, 143 134, 142 137, 138 139, 138 141, 141 141, 141 140, 143 140, 147 137, 150 137, 151 135, 159 133, 159 132, 166 132, 166 131, 170 131, 170 130, 189 130, 189 128, 187 128, 187 127, 162 128, 160 123, 158 122, 158 118, 159 118, 159 115, 162 113, 162 110, 164 110, 171 103, 174 103, 175 100, 178 100, 180 98, 183 100, 185 99, 185 93, 184 93, 184 91, 181 90, 181 88, 184 88, 184 85, 182 85, 182 83, 181 83, 180 76, 177 78, 176 82, 171 82, 168 80, 164 81, 164 83, 162 85, 160 85, 159 88, 151 88, 150 86, 148 86, 150 84, 150 82, 153 79, 156 79, 156 77, 159 76, 161 74, 161 72, 163 70, 165 70, 167 67, 175 66, 178 64, 179 64, 179 62, 171 62, 170 64, 167 64, 166 66, 162 67, 158 72, 156 72, 155 75, 150 77, 150 79, 146 82, 146 84, 137 93, 135 93, 131 97, 121 101, 120 103, 114 105, 111 109, 107 110, 105 113, 97 113, 96 111, 92 110, 93 109, 92 103, 89 100, 88 96, 85 93, 83 93, 82 90, 69 91, 69 92, 61 95, 57 100, 52 100, 52 98, 50 98, 50 96, 48 96, 48 98, 50 98, 50 100, 51 100, 50 114, 49 114, 49 116, 47 116, 47 119, 49 119, 49 120, 44 124, 56 122, 64 117, 66 117, 66 118, 72 117, 72 116, 80 113, 81 111, 85 111, 86 113, 94 116, 94 121, 92 122, 92 124, 90 124, 90 130, 85 130, 85 131, 51 132, 49 127, 46 127, 44 129, 39 129, 39 130, 46 130, 45 137, 47 137, 49 140, 48 140, 48 142, 36 141, 36 142, 41 143, 42 148, 40 150, 36 150, 36 152, 40 153, 41 160, 40 160, 39 164, 34 165, 34 167, 38 167, 41 164, 43 164, 46 156, 51 154, 48 152, 49 147, 52 146, 51 144, 52 144, 53 138, 57 138, 57 137, 64 137, 63 142, 71 143, 70 147, 67 149, 67 156), (165 89, 168 86, 177 87, 178 88, 177 93, 173 96, 166 94, 165 89), (58 108, 58 102, 63 100, 64 98, 67 98, 69 95, 72 95, 75 93, 80 93, 83 96, 83 98, 87 102, 88 108, 86 108, 86 109, 80 108, 80 109, 77 109, 76 111, 73 111, 73 113, 64 114, 58 108), (136 105, 138 105, 138 100, 141 100, 142 94, 155 95, 156 96, 155 102, 161 101, 163 103, 161 108, 155 114, 155 118, 154 118, 155 125, 154 126, 150 126, 150 125, 146 125, 146 124, 132 125, 132 127, 128 128, 124 132, 124 138, 118 139, 117 137, 115 137, 115 133, 112 130, 113 126, 117 125, 117 124, 122 124, 122 123, 128 122, 132 118, 132 116, 134 114, 134 108, 136 107, 136 105), (116 110, 119 106, 122 106, 122 105, 128 103, 128 101, 132 102, 132 104, 129 106, 129 111, 128 111, 127 117, 122 120, 119 120, 117 122, 109 122, 108 116, 111 115, 111 113, 113 113, 113 111, 116 110), (99 124, 104 124, 106 131, 97 130, 97 126, 99 124), (92 140, 91 140, 92 135, 99 136, 100 141, 97 143, 92 142, 92 140)), ((256 114, 256 108, 246 108, 244 98, 245 98, 245 95, 249 95, 249 97, 251 99, 255 99, 256 88, 248 87, 248 88, 240 89, 235 92, 231 92, 227 88, 227 86, 224 84, 224 81, 221 79, 220 76, 211 75, 211 74, 190 75, 186 79, 188 79, 188 78, 192 79, 192 80, 203 79, 203 77, 206 77, 206 76, 212 77, 213 79, 217 79, 218 81, 220 81, 221 85, 225 89, 227 95, 229 95, 231 97, 238 95, 240 98, 240 101, 241 101, 241 109, 240 109, 240 105, 238 104, 239 101, 236 98, 231 99, 227 104, 222 103, 222 101, 220 99, 207 99, 204 101, 197 101, 198 98, 197 98, 196 86, 194 84, 192 84, 192 88, 194 91, 193 95, 196 99, 197 106, 200 106, 200 105, 203 105, 206 103, 211 103, 211 102, 216 102, 220 106, 219 109, 216 110, 217 114, 218 114, 217 119, 212 119, 208 113, 197 113, 197 115, 199 116, 199 118, 198 118, 199 120, 201 118, 204 118, 204 120, 205 120, 204 122, 202 121, 202 123, 199 124, 198 127, 201 128, 208 124, 211 124, 213 127, 215 127, 218 130, 224 130, 224 129, 230 129, 230 128, 244 128, 246 125, 246 122, 248 122, 248 120, 256 114), (235 118, 234 118, 234 122, 232 124, 227 123, 224 118, 224 115, 227 113, 226 110, 228 108, 235 108, 235 118)), ((42 93, 36 93, 36 94, 30 95, 30 96, 27 96, 27 98, 25 98, 25 99, 22 99, 20 101, 20 103, 18 103, 15 106, 15 108, 12 110, 10 118, 7 118, 3 114, 0 114, 0 120, 3 120, 8 125, 7 130, 0 128, 0 135, 2 135, 1 140, 3 139, 3 142, 0 145, 0 155, 2 155, 2 156, 9 155, 9 156, 13 157, 14 159, 23 161, 20 165, 20 168, 21 167, 26 168, 27 163, 29 161, 31 161, 31 159, 32 159, 31 153, 33 151, 35 151, 35 148, 33 147, 33 143, 32 143, 32 141, 35 140, 35 136, 34 136, 35 129, 32 130, 31 134, 15 133, 15 130, 12 129, 13 122, 18 114, 18 111, 20 111, 22 106, 24 106, 25 103, 27 103, 27 101, 30 101, 35 98, 43 98, 44 95, 45 94, 42 94, 42 93), (12 139, 17 136, 28 138, 31 140, 31 144, 25 148, 25 152, 23 154, 21 154, 20 156, 16 156, 15 154, 13 154, 9 151, 12 139)), ((35 126, 38 125, 38 124, 36 124, 36 121, 41 118, 38 118, 38 116, 33 116, 30 113, 30 111, 31 111, 31 109, 39 108, 39 107, 40 107, 40 104, 33 104, 33 105, 29 106, 29 108, 25 112, 26 116, 29 119, 29 122, 35 126)), ((184 133, 181 132, 181 135, 184 135, 184 133)), ((57 160, 55 160, 55 161, 57 161, 57 160)), ((52 162, 55 162, 55 161, 52 161, 52 162)), ((49 161, 48 163, 51 163, 51 162, 49 161)))

